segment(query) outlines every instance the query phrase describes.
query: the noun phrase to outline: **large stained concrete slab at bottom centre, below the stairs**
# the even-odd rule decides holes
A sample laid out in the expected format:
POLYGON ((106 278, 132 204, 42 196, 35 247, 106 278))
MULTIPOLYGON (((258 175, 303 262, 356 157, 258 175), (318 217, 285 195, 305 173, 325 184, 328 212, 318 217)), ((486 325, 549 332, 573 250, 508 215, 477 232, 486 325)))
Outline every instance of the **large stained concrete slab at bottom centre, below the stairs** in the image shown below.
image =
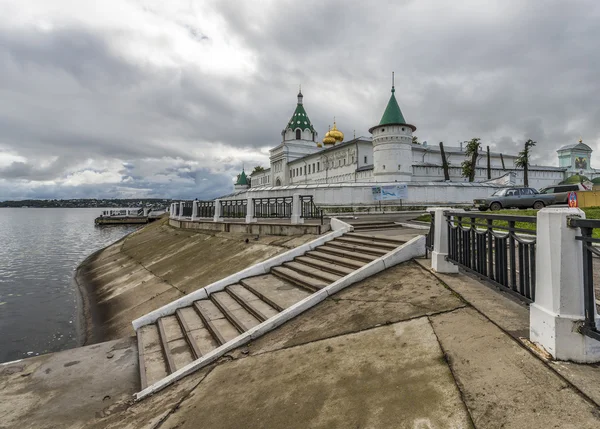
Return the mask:
POLYGON ((470 428, 427 318, 216 367, 161 428, 470 428))

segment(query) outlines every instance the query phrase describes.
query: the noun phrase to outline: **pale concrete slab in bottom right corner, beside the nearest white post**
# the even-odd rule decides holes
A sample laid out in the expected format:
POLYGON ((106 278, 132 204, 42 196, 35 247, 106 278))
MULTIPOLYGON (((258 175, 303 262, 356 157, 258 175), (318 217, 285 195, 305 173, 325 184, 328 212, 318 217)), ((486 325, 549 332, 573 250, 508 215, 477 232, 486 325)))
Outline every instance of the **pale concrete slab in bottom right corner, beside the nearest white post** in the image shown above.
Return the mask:
POLYGON ((472 308, 432 316, 478 428, 597 428, 598 408, 472 308))

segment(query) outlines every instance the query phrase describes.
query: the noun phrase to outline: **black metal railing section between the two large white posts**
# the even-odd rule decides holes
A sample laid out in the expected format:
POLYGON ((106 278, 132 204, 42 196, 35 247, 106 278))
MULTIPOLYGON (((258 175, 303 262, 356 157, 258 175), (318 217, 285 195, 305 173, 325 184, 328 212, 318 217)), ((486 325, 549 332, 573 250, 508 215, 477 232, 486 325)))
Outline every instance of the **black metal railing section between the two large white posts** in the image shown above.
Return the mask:
POLYGON ((444 212, 448 224, 448 261, 494 283, 526 302, 535 300, 533 216, 444 212))

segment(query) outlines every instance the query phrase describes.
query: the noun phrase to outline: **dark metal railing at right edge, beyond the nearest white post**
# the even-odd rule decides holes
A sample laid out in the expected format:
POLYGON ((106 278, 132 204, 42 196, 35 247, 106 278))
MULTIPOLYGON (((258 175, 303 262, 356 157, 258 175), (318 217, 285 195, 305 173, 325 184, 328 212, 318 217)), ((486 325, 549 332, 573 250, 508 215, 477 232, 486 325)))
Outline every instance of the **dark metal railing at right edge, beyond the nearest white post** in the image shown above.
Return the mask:
POLYGON ((596 300, 594 298, 594 255, 600 256, 594 243, 600 243, 599 238, 594 238, 594 229, 600 228, 600 220, 581 219, 572 217, 568 219, 568 226, 571 228, 579 228, 581 235, 575 237, 581 241, 583 250, 583 305, 585 311, 585 321, 583 326, 579 328, 579 332, 588 337, 600 341, 600 332, 598 332, 595 320, 596 300))

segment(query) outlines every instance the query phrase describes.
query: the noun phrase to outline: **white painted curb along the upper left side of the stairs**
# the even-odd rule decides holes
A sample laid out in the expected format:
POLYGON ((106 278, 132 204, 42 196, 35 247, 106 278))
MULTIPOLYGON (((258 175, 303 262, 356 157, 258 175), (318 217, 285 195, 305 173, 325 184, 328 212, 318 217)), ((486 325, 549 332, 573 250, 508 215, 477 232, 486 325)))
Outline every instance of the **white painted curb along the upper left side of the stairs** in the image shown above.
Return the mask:
POLYGON ((133 329, 137 331, 142 326, 154 323, 161 317, 175 314, 175 311, 178 308, 187 307, 189 305, 192 305, 194 301, 208 298, 208 296, 211 293, 222 291, 225 289, 226 286, 235 284, 242 279, 268 274, 272 267, 281 265, 284 262, 289 262, 293 260, 296 256, 301 256, 309 250, 313 250, 315 247, 321 246, 326 242, 331 241, 334 238, 340 237, 346 232, 352 231, 354 229, 352 225, 349 225, 346 222, 342 222, 341 220, 332 219, 331 221, 331 229, 333 230, 333 232, 323 235, 309 243, 305 243, 294 249, 288 250, 287 252, 282 253, 281 255, 276 255, 271 259, 267 259, 266 261, 259 262, 258 264, 248 267, 242 271, 238 271, 237 273, 232 274, 229 277, 217 280, 216 282, 211 283, 210 285, 205 286, 202 289, 198 289, 192 293, 182 296, 181 298, 173 302, 168 303, 167 305, 162 306, 161 308, 151 311, 150 313, 131 322, 133 324, 133 329), (333 222, 334 220, 336 222, 333 222))

